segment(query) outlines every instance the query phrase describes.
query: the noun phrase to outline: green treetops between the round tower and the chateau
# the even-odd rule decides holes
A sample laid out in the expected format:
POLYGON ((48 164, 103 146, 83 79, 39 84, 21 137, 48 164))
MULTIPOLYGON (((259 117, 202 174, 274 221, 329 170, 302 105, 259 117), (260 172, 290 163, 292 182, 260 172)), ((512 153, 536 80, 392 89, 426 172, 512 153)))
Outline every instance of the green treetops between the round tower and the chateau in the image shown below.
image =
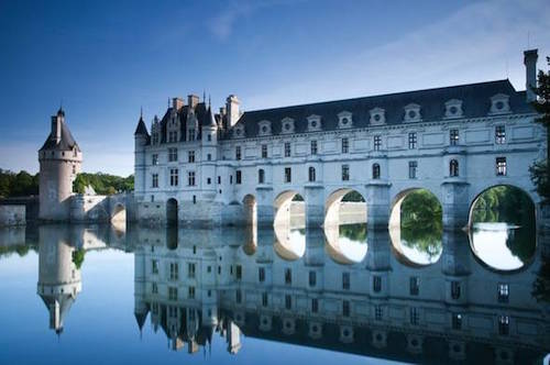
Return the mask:
POLYGON ((120 177, 109 174, 78 174, 73 182, 73 191, 84 193, 87 186, 91 186, 98 195, 113 195, 117 192, 132 191, 134 176, 120 177))

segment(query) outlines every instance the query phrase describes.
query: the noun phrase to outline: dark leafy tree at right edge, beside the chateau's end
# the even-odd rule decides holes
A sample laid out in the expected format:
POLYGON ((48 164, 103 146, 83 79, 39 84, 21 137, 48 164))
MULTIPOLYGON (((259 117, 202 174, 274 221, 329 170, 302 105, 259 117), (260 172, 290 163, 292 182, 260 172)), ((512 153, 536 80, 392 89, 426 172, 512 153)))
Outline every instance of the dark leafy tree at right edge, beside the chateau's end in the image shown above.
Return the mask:
MULTIPOLYGON (((547 62, 550 66, 550 57, 547 57, 547 62)), ((550 70, 546 74, 543 70, 539 71, 538 87, 534 88, 534 91, 538 98, 532 102, 532 107, 540 114, 536 122, 547 129, 547 158, 529 167, 529 173, 537 192, 548 201, 550 199, 550 148, 548 148, 550 144, 550 70)))

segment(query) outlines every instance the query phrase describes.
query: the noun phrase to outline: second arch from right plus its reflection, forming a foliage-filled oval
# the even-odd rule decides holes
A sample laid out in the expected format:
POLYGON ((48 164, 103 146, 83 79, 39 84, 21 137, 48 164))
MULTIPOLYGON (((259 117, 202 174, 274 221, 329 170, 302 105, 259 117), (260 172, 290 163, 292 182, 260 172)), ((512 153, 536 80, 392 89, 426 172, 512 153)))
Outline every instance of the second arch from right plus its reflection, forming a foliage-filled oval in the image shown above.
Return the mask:
POLYGON ((436 263, 443 250, 442 207, 436 195, 419 188, 399 192, 392 204, 389 237, 402 263, 436 263))

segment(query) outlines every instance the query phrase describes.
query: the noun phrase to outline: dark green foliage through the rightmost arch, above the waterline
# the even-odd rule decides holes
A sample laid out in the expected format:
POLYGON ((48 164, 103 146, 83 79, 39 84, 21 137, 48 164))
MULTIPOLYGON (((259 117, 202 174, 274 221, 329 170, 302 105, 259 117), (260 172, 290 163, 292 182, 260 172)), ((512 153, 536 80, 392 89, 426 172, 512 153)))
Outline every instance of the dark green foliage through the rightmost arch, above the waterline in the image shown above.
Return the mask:
POLYGON ((473 223, 507 222, 529 225, 535 222, 535 204, 520 189, 502 185, 484 191, 472 212, 473 223))

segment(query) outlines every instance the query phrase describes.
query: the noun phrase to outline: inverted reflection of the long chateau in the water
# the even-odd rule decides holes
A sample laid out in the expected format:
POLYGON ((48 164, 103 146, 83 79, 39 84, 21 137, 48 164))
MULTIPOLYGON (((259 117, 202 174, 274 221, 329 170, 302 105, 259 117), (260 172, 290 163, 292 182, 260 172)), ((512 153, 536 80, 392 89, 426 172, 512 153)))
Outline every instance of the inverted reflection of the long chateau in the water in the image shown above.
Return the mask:
POLYGON ((282 258, 286 251, 274 245, 273 231, 242 233, 180 231, 178 246, 168 250, 164 233, 139 231, 132 240, 140 328, 151 313, 153 329, 189 352, 209 344, 213 332, 231 352, 242 332, 443 363, 529 363, 549 346, 548 320, 530 296, 538 262, 514 275, 488 272, 462 233, 444 233, 441 258, 426 267, 402 264, 387 231, 369 231, 367 254, 355 265, 336 263, 322 231, 305 231, 305 254, 294 261, 282 258))

